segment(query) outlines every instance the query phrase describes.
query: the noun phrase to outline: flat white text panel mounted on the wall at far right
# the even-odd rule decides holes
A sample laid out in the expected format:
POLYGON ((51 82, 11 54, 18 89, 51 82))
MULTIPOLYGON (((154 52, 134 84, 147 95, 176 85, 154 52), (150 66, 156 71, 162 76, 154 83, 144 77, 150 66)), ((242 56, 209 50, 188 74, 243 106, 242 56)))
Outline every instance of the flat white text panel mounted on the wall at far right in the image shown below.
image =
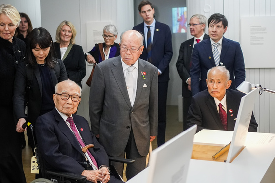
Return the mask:
POLYGON ((275 68, 275 16, 242 17, 241 47, 246 68, 275 68))

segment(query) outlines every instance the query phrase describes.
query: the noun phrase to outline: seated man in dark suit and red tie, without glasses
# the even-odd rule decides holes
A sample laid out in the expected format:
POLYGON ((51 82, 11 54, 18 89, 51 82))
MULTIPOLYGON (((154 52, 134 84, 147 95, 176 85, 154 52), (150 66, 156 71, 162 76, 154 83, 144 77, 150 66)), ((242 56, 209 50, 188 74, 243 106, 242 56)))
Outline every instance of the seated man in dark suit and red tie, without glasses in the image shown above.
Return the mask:
MULTIPOLYGON (((245 95, 229 89, 229 71, 224 66, 213 67, 207 72, 208 89, 192 97, 187 116, 187 127, 197 124, 202 129, 233 131, 241 98, 245 95)), ((258 124, 252 113, 248 131, 257 132, 258 124)))

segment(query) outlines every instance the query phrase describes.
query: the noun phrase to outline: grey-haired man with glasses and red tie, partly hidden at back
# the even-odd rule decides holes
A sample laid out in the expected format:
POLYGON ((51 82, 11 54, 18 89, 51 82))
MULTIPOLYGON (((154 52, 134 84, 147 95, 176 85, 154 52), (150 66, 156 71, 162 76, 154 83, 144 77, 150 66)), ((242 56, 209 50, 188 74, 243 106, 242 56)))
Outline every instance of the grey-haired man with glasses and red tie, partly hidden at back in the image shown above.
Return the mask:
POLYGON ((201 14, 192 15, 189 21, 190 34, 194 36, 193 38, 183 42, 180 46, 179 57, 176 63, 178 73, 182 79, 182 96, 183 96, 183 130, 186 130, 186 117, 191 104, 191 85, 190 85, 190 65, 191 65, 191 55, 194 45, 202 40, 209 38, 207 34, 204 33, 206 25, 206 17, 201 14))

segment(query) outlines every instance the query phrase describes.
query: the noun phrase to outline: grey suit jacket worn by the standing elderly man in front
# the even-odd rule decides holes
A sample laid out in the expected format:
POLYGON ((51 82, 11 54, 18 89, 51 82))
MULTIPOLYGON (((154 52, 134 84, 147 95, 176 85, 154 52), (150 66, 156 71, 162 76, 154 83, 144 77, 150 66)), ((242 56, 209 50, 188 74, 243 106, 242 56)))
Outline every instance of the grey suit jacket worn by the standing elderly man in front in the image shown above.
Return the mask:
POLYGON ((149 152, 150 136, 157 136, 158 70, 138 60, 137 94, 131 106, 123 74, 121 56, 99 63, 90 89, 89 111, 92 131, 110 156, 125 150, 131 129, 138 152, 149 152), (146 72, 143 79, 140 72, 146 72))

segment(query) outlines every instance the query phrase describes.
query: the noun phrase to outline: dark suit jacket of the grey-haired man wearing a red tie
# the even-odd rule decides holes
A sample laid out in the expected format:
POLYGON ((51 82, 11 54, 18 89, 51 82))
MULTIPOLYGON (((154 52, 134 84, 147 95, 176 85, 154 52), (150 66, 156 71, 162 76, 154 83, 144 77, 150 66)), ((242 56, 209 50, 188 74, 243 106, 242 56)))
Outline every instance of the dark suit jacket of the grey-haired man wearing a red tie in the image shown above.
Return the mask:
MULTIPOLYGON (((209 36, 207 34, 204 34, 203 40, 207 38, 209 38, 209 36)), ((178 61, 176 63, 178 73, 182 79, 182 96, 183 97, 191 96, 191 91, 188 90, 187 88, 188 84, 186 83, 186 80, 190 78, 189 70, 191 66, 191 55, 192 55, 192 49, 194 45, 194 39, 195 38, 189 39, 181 44, 178 61)))

